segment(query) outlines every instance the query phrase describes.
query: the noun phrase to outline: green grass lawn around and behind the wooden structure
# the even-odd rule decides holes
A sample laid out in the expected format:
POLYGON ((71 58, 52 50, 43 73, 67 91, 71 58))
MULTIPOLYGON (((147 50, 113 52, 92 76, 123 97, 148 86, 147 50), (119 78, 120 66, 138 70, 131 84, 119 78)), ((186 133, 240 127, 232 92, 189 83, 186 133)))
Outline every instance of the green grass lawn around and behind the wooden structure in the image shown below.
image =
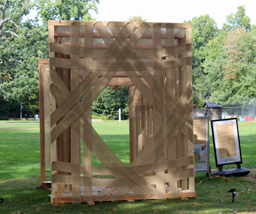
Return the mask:
MULTIPOLYGON (((33 122, 33 121, 32 121, 33 122)), ((103 202, 94 206, 83 204, 59 204, 52 206, 48 189, 40 184, 39 123, 17 121, 15 124, 0 122, 0 213, 234 213, 254 212, 256 208, 256 122, 239 122, 239 134, 243 158, 242 167, 250 169, 248 177, 236 180, 205 177, 197 173, 195 188, 197 197, 190 199, 166 199, 145 201, 103 202), (2 123, 2 124, 1 124, 2 123), (24 124, 25 123, 25 124, 24 124), (237 188, 240 193, 232 203, 227 191, 237 188), (19 212, 18 212, 19 211, 19 212)), ((129 122, 104 121, 93 123, 106 144, 127 165, 129 156, 129 122)), ((210 133, 211 139, 211 133, 210 133)), ((210 140, 210 165, 215 169, 212 140, 210 140)), ((95 165, 100 162, 93 159, 95 165)), ((235 168, 236 165, 226 165, 235 168)), ((50 180, 50 168, 47 168, 50 180)), ((235 177, 230 177, 235 178, 235 177)))

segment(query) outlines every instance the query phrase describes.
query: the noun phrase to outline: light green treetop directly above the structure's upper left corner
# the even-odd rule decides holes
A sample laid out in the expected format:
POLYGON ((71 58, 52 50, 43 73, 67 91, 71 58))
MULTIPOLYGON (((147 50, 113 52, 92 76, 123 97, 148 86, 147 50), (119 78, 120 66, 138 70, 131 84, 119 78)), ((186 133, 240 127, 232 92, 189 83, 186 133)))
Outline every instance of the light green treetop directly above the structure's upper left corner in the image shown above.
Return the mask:
POLYGON ((48 20, 92 20, 90 10, 98 14, 99 0, 35 0, 36 9, 44 23, 48 20))

